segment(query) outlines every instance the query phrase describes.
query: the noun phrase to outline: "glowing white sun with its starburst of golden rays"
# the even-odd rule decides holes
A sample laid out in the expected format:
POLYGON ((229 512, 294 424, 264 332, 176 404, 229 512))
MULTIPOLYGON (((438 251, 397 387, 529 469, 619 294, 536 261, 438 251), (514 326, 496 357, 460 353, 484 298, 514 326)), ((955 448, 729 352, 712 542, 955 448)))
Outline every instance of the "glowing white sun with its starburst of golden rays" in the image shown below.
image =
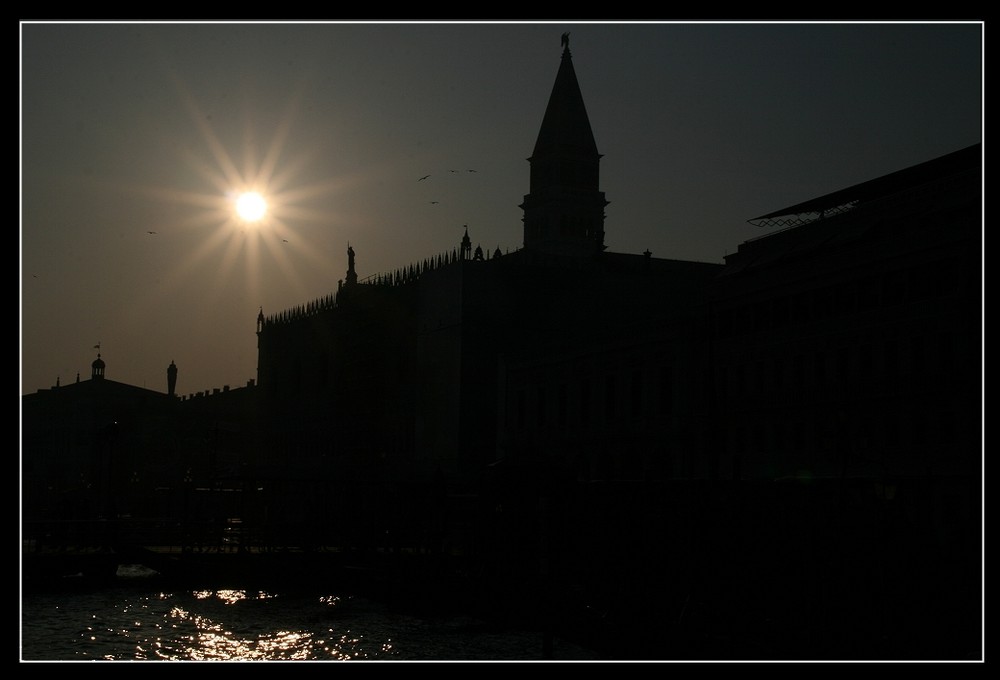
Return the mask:
POLYGON ((186 257, 178 259, 176 269, 170 272, 169 285, 164 284, 164 288, 181 285, 195 271, 214 272, 217 285, 206 289, 204 303, 217 306, 223 294, 232 290, 236 270, 242 268, 240 288, 253 300, 266 299, 262 281, 265 274, 272 280, 280 277, 299 297, 308 295, 306 273, 328 272, 330 255, 310 241, 308 231, 295 227, 340 224, 338 215, 310 207, 309 201, 338 194, 350 180, 326 177, 300 183, 317 150, 291 154, 285 148, 288 131, 294 127, 298 97, 289 98, 287 115, 275 129, 270 143, 259 146, 253 143, 253 135, 248 135, 242 153, 234 156, 208 123, 211 117, 186 85, 175 84, 203 138, 202 144, 192 147, 197 152, 184 146, 176 151, 180 160, 192 166, 195 176, 206 180, 208 186, 204 193, 139 187, 157 200, 190 208, 188 214, 178 218, 176 226, 190 228, 191 234, 197 236, 192 241, 197 245, 186 257), (208 152, 209 157, 202 157, 202 151, 208 152))

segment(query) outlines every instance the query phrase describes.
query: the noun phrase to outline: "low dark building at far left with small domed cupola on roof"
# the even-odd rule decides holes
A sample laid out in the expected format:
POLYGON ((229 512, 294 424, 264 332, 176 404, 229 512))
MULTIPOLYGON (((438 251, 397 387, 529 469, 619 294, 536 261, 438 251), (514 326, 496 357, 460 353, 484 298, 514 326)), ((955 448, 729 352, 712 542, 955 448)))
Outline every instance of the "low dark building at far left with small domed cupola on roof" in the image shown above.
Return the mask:
MULTIPOLYGON (((252 382, 180 399, 106 376, 21 397, 22 515, 28 522, 131 517, 180 520, 218 505, 199 491, 242 489, 257 472, 252 382)), ((234 497, 234 494, 228 494, 234 497)), ((233 503, 236 516, 249 504, 233 503)), ((83 525, 81 525, 83 526, 83 525)))

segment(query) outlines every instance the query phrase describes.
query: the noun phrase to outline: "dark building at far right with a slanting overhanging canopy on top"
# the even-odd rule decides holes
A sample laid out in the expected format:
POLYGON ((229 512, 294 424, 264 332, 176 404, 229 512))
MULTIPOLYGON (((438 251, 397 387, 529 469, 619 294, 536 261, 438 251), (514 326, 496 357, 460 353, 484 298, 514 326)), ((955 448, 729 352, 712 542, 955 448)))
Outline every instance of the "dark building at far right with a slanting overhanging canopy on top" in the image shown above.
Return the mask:
POLYGON ((982 148, 752 222, 713 283, 720 474, 968 476, 980 464, 982 148))

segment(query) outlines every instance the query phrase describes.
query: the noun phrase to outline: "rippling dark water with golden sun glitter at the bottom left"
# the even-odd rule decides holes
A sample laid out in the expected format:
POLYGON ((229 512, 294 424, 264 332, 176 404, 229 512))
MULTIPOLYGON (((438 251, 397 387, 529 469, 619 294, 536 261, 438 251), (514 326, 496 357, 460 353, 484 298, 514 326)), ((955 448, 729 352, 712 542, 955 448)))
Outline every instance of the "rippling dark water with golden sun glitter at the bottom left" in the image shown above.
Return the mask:
MULTIPOLYGON (((109 589, 35 594, 22 607, 25 661, 518 660, 542 649, 536 631, 422 619, 320 593, 109 589)), ((566 649, 563 658, 593 658, 566 649)))

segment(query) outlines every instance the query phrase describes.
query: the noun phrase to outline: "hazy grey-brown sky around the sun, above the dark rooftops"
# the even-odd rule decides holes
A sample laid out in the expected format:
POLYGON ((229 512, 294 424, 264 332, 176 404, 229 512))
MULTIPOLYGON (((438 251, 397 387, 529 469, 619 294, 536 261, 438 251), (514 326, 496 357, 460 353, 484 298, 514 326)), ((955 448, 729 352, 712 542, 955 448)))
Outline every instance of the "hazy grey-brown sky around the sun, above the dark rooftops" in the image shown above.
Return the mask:
POLYGON ((721 263, 753 217, 982 140, 980 23, 22 23, 21 393, 98 342, 111 380, 239 387, 258 309, 334 292, 348 243, 361 278, 464 225, 520 247, 564 31, 610 251, 721 263))

